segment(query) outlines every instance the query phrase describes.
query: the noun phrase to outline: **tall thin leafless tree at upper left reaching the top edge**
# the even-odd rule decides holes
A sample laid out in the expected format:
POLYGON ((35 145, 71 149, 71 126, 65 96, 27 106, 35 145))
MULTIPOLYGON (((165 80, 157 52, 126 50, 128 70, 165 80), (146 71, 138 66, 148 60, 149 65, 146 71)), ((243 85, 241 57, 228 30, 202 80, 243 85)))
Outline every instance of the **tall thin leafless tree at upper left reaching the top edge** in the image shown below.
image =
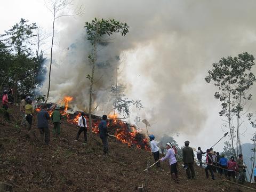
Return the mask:
POLYGON ((63 11, 68 10, 69 6, 71 6, 73 3, 73 0, 48 0, 45 1, 45 6, 47 9, 52 13, 52 43, 51 43, 51 57, 50 57, 50 69, 49 69, 49 85, 46 95, 45 103, 47 102, 49 98, 49 92, 51 87, 51 69, 52 69, 52 50, 53 50, 53 41, 54 41, 54 26, 55 21, 61 17, 75 17, 76 15, 82 14, 83 8, 82 6, 77 7, 77 9, 74 10, 74 13, 69 14, 63 13, 63 11))

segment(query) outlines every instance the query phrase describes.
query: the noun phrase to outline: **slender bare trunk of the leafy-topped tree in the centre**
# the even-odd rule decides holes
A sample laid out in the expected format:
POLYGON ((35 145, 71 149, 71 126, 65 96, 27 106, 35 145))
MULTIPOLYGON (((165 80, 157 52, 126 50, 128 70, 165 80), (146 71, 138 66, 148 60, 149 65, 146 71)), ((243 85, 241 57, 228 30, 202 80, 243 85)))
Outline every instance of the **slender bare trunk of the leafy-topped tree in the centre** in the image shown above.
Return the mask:
POLYGON ((88 138, 88 149, 91 148, 92 143, 92 88, 93 88, 93 76, 95 69, 95 62, 97 61, 97 42, 94 42, 93 48, 93 63, 92 63, 92 75, 90 77, 90 97, 89 97, 89 138, 88 138))

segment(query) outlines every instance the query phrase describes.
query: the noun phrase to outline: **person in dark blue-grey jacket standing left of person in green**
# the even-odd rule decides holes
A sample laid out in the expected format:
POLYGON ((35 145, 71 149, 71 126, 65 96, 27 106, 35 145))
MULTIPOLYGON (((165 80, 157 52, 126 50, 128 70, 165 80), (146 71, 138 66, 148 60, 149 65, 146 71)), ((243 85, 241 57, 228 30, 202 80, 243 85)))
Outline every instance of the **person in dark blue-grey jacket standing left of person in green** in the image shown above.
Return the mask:
POLYGON ((45 145, 49 145, 50 142, 49 119, 51 119, 51 117, 47 111, 47 106, 44 105, 37 114, 37 127, 41 135, 41 141, 45 141, 45 145))

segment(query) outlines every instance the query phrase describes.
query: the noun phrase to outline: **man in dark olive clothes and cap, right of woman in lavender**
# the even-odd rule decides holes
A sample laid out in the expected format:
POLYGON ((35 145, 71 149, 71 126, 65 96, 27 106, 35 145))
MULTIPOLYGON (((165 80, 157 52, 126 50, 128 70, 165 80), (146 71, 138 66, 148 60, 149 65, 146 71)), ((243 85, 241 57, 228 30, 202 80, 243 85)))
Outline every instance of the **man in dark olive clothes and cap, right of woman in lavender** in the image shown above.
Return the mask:
POLYGON ((188 179, 195 179, 195 170, 194 170, 194 151, 189 146, 189 141, 185 141, 185 147, 182 148, 182 161, 185 165, 188 166, 186 170, 188 179))

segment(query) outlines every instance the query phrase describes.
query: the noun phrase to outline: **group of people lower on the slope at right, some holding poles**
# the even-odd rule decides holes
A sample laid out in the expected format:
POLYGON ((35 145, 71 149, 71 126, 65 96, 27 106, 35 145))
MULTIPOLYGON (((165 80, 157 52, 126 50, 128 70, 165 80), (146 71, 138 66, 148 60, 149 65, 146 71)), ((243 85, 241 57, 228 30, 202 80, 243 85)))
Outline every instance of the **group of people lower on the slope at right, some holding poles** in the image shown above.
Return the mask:
MULTIPOLYGON (((166 143, 166 154, 164 157, 159 159, 159 147, 158 142, 155 141, 154 135, 149 135, 150 140, 150 148, 151 153, 154 157, 155 163, 157 167, 161 167, 159 162, 163 162, 166 159, 169 159, 170 171, 172 175, 172 179, 175 182, 178 181, 178 169, 177 169, 177 150, 175 146, 172 146, 170 142, 166 143)), ((229 161, 225 157, 225 154, 219 154, 218 152, 213 151, 212 148, 207 149, 206 152, 203 152, 201 147, 198 147, 197 159, 198 162, 195 161, 194 158, 194 150, 189 147, 189 141, 185 141, 185 146, 182 148, 182 162, 183 169, 186 170, 188 179, 196 179, 194 164, 198 164, 200 167, 203 167, 205 164, 205 175, 206 178, 209 178, 209 171, 213 180, 215 180, 214 173, 218 173, 220 175, 225 175, 229 180, 232 177, 236 180, 236 172, 239 173, 239 182, 244 183, 246 180, 245 169, 246 166, 243 162, 243 155, 239 154, 237 161, 235 161, 234 156, 231 156, 229 161), (206 157, 206 162, 202 162, 202 156, 206 157)), ((256 167, 254 170, 254 180, 256 180, 256 167)))

